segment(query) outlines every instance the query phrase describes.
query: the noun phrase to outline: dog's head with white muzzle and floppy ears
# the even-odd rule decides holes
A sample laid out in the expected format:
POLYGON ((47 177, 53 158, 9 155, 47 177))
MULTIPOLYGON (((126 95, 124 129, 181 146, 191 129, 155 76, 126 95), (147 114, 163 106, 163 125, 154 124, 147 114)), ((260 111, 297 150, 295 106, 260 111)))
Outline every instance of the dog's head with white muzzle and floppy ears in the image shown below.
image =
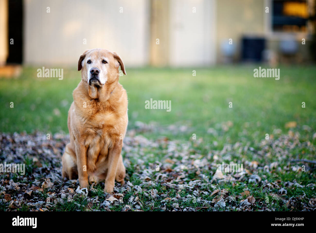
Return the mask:
POLYGON ((82 81, 90 86, 101 87, 118 80, 119 66, 126 75, 120 56, 106 49, 86 50, 78 61, 78 71, 82 70, 82 81))

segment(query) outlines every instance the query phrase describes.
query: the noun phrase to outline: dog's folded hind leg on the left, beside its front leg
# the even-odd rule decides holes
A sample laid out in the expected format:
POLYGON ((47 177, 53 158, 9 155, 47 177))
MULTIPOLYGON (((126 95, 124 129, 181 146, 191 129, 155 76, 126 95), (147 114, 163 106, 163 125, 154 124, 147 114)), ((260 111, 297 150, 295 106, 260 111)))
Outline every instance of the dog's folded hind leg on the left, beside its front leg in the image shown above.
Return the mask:
POLYGON ((63 178, 76 178, 78 176, 76 153, 71 149, 70 143, 66 145, 65 152, 61 160, 63 162, 63 178))

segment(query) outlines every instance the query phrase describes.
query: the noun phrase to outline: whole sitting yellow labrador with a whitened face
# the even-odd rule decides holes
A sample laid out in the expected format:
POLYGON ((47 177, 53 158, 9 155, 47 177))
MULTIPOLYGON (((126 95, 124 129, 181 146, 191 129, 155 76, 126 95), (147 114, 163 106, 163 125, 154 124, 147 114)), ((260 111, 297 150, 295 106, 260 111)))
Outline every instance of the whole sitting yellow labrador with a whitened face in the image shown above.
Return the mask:
POLYGON ((124 185, 121 155, 127 128, 127 94, 119 84, 122 59, 106 49, 86 50, 79 58, 81 81, 73 91, 68 112, 70 143, 63 154, 63 178, 76 178, 81 187, 105 180, 111 193, 115 180, 124 185))

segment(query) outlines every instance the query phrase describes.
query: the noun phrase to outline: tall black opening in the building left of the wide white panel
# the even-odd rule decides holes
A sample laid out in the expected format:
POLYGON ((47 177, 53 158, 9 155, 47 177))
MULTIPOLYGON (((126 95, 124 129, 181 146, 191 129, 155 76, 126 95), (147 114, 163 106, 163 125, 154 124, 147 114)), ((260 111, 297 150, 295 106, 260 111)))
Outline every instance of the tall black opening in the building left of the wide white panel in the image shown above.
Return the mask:
POLYGON ((7 63, 21 64, 23 60, 23 1, 9 0, 9 56, 7 63), (11 44, 13 39, 13 44, 11 44))

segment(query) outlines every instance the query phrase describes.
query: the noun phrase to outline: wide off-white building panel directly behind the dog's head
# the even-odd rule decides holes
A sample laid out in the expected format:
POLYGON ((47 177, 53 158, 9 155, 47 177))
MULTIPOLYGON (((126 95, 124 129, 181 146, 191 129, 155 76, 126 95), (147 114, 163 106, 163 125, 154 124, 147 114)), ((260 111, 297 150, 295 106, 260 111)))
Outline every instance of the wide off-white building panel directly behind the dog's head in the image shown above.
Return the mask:
POLYGON ((24 64, 76 66, 86 49, 104 48, 117 52, 126 66, 146 65, 149 5, 147 0, 24 0, 24 64))

